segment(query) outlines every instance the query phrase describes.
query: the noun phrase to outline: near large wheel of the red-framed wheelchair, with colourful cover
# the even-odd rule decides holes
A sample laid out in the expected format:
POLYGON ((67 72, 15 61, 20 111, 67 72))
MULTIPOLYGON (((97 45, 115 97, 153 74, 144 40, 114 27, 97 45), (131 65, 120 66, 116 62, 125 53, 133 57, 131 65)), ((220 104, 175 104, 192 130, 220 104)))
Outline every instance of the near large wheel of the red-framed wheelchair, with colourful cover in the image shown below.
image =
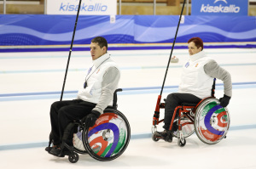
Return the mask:
POLYGON ((194 125, 195 132, 203 143, 217 144, 229 130, 229 110, 219 105, 218 99, 206 99, 195 110, 194 125))

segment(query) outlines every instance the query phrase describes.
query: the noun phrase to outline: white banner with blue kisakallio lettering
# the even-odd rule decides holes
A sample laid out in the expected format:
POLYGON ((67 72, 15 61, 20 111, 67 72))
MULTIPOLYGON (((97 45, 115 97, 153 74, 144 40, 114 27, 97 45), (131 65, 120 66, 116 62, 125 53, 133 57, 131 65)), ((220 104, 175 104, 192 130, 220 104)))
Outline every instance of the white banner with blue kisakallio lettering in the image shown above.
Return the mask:
MULTIPOLYGON (((48 0, 47 14, 77 14, 79 0, 48 0)), ((116 0, 82 0, 79 14, 115 15, 116 0)))

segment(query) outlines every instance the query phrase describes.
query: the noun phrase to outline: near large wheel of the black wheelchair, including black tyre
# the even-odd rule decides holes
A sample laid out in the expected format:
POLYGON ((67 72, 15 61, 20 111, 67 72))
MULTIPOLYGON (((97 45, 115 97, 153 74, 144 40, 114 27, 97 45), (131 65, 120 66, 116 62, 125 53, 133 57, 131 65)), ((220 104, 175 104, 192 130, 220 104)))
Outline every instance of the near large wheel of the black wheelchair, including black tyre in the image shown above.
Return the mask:
POLYGON ((107 109, 94 127, 83 132, 84 147, 98 161, 112 161, 122 155, 131 138, 131 129, 125 115, 119 110, 107 109))

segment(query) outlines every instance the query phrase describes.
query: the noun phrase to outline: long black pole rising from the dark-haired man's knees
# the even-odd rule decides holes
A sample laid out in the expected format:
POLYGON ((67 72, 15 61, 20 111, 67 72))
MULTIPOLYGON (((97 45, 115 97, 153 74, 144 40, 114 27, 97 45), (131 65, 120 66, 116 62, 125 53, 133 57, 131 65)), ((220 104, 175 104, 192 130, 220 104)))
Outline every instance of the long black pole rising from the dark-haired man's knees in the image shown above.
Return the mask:
POLYGON ((73 37, 72 37, 72 41, 71 41, 71 45, 70 45, 70 49, 69 49, 69 54, 68 54, 68 59, 67 59, 67 67, 66 67, 66 72, 65 72, 65 76, 64 76, 64 82, 62 85, 62 90, 61 90, 61 100, 63 97, 63 93, 64 93, 64 88, 65 88, 65 83, 66 83, 66 78, 67 78, 67 70, 68 70, 68 65, 69 65, 69 60, 70 60, 70 56, 72 53, 72 49, 73 49, 73 39, 76 33, 76 29, 77 29, 77 25, 78 25, 78 20, 79 20, 79 11, 80 11, 80 7, 81 7, 81 2, 82 0, 79 0, 79 8, 78 8, 78 13, 77 13, 77 18, 76 18, 76 22, 73 28, 73 37))

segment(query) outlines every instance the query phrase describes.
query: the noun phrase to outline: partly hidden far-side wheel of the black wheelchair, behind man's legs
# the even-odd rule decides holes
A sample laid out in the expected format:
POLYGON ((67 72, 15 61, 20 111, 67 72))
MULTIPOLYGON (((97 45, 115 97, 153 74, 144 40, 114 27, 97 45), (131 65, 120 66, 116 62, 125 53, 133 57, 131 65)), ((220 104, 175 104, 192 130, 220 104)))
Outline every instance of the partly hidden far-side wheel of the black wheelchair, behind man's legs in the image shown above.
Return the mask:
POLYGON ((84 149, 84 144, 83 144, 83 130, 78 128, 77 133, 73 134, 73 150, 79 154, 87 154, 87 151, 84 149))

